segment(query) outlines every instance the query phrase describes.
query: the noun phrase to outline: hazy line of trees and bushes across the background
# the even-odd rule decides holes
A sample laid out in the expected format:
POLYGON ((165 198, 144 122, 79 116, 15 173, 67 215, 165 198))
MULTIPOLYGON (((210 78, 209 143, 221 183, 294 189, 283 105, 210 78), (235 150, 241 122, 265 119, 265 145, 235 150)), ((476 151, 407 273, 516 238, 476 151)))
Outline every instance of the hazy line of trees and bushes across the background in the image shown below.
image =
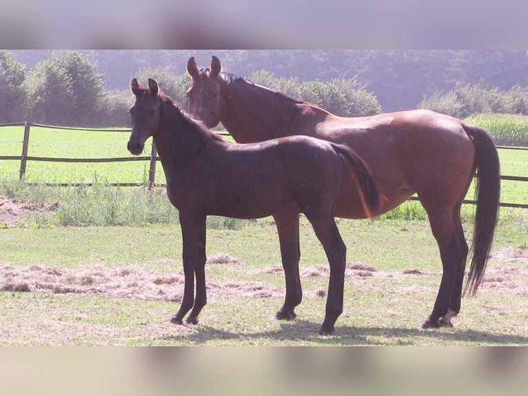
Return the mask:
POLYGON ((528 114, 526 51, 2 50, 0 123, 21 121, 31 106, 39 123, 127 126, 132 77, 157 79, 186 106, 185 63, 196 56, 207 66, 212 54, 228 72, 343 116, 416 107, 461 118, 528 114))

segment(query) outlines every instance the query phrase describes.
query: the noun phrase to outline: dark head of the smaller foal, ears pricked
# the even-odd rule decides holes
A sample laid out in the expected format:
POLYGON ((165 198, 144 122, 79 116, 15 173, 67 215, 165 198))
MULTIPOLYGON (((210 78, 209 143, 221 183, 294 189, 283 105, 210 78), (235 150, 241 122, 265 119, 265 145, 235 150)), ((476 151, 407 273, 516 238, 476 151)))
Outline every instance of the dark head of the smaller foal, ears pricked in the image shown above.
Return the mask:
POLYGON ((128 141, 128 151, 133 155, 140 155, 145 147, 145 141, 154 134, 159 125, 158 83, 148 79, 148 88, 141 86, 137 79, 130 83, 130 89, 135 96, 130 108, 132 117, 132 133, 128 141))

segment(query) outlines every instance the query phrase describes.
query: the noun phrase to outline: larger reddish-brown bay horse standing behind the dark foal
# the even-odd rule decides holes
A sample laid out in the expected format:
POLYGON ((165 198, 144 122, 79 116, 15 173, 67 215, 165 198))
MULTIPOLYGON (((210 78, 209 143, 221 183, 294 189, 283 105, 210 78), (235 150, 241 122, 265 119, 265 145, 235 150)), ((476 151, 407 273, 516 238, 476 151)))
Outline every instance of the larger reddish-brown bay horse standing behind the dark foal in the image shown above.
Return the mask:
MULTIPOLYGON (((485 130, 429 110, 392 112, 370 117, 338 117, 310 103, 287 97, 236 75, 222 72, 217 57, 199 68, 187 62, 192 83, 189 112, 213 128, 219 122, 235 141, 249 143, 298 132, 344 144, 367 163, 385 196, 381 212, 399 206, 417 193, 440 249, 443 276, 431 315, 422 328, 452 326, 460 311, 469 253, 460 207, 475 172, 476 215, 471 266, 464 292, 476 293, 485 273, 494 239, 500 197, 500 164, 494 142, 485 130)), ((336 217, 361 219, 354 183, 345 180, 336 217)), ((283 246, 283 267, 290 299, 280 313, 301 302, 298 283, 298 219, 287 211, 274 215, 283 246)))

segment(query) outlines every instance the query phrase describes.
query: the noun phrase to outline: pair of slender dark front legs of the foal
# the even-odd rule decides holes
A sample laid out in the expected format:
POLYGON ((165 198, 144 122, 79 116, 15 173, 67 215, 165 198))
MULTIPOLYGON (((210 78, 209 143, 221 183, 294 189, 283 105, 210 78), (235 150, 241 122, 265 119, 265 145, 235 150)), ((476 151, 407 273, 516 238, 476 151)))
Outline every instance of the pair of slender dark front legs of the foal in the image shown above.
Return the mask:
POLYGON ((194 315, 187 318, 187 323, 197 324, 197 316, 205 305, 205 219, 206 217, 195 217, 180 211, 180 225, 183 237, 183 274, 185 275, 185 286, 183 289, 183 300, 180 309, 170 321, 174 324, 182 324, 183 317, 195 306, 192 311, 194 315), (196 270, 198 268, 198 270, 196 270), (201 268, 201 269, 200 269, 201 268), (196 299, 194 301, 194 274, 196 278, 196 299), (199 308, 198 308, 199 307, 199 308))

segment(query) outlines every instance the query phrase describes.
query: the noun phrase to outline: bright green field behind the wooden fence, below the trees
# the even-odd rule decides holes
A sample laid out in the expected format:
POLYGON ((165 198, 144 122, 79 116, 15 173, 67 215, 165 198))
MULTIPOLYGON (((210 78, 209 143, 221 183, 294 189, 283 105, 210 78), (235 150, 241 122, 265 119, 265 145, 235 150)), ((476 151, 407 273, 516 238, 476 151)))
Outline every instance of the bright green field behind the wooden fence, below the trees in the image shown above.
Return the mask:
MULTIPOLYGON (((492 135, 503 131, 520 139, 528 135, 528 117, 480 115, 466 121, 482 126, 492 135)), ((32 127, 28 155, 35 157, 111 158, 132 157, 126 148, 128 132, 76 131, 32 127)), ((0 156, 21 155, 23 127, 0 128, 0 156)), ((147 141, 143 155, 150 155, 152 140, 147 141)), ((499 150, 502 175, 528 177, 528 150, 499 150)), ((0 161, 0 179, 18 179, 19 161, 0 161)), ((148 181, 148 161, 97 164, 54 163, 28 161, 27 181, 46 183, 145 183, 148 181)), ((165 183, 158 164, 156 183, 165 183)), ((503 202, 528 204, 526 182, 503 181, 503 202)), ((468 199, 472 197, 472 189, 468 199)))

